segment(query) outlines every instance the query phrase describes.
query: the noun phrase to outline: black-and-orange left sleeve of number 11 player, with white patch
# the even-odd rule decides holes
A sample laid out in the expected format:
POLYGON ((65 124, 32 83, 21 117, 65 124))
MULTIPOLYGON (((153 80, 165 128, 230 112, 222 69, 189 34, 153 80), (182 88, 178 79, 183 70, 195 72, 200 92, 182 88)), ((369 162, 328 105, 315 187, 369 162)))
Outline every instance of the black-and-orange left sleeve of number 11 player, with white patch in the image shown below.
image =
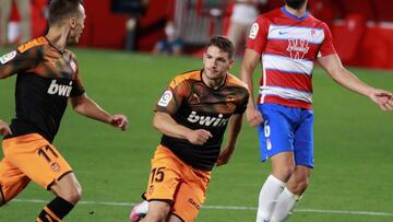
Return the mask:
POLYGON ((40 47, 23 50, 23 52, 20 49, 8 52, 0 57, 0 79, 33 71, 41 58, 40 47))

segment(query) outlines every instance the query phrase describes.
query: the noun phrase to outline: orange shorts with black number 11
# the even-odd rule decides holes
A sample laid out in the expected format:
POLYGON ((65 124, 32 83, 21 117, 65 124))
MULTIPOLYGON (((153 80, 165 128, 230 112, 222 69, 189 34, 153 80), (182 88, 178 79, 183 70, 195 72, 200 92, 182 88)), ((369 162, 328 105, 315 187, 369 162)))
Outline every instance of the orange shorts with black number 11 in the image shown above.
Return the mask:
POLYGON ((72 172, 59 151, 38 133, 2 141, 4 157, 0 162, 1 195, 10 201, 33 180, 45 189, 72 172))

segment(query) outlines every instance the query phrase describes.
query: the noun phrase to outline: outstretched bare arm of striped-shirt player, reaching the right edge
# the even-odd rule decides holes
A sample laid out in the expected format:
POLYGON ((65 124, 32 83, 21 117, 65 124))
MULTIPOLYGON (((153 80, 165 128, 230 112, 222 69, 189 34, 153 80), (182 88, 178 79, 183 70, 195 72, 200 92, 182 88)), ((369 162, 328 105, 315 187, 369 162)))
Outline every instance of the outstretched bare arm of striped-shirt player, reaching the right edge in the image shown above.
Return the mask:
POLYGON ((392 93, 374 89, 359 80, 354 73, 344 68, 336 54, 319 58, 318 61, 331 78, 344 87, 369 97, 382 110, 393 110, 392 93))

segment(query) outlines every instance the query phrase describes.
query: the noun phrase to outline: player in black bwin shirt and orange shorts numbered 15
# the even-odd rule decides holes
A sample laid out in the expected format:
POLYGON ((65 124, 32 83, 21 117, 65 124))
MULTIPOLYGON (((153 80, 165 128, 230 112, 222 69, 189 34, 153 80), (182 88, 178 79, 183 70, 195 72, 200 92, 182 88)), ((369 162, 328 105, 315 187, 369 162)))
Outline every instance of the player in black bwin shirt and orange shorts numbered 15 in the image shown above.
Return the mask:
MULTIPOLYGON (((177 75, 158 101, 153 126, 163 137, 145 192, 148 211, 141 221, 196 219, 211 171, 229 161, 247 107, 245 83, 227 72, 233 63, 230 40, 212 37, 203 55, 203 69, 177 75), (227 125, 228 141, 221 150, 227 125)), ((142 213, 136 209, 131 221, 140 220, 138 214, 142 213)))

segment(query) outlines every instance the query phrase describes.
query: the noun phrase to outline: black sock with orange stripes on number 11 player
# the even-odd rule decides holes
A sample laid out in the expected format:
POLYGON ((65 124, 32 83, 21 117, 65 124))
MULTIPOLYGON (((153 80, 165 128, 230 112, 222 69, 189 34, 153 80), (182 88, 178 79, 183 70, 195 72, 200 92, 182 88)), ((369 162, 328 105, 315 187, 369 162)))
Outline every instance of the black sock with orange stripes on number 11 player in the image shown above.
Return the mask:
POLYGON ((62 199, 61 197, 56 197, 51 202, 44 207, 43 211, 39 213, 37 221, 38 222, 58 222, 61 221, 73 208, 74 206, 62 199))

